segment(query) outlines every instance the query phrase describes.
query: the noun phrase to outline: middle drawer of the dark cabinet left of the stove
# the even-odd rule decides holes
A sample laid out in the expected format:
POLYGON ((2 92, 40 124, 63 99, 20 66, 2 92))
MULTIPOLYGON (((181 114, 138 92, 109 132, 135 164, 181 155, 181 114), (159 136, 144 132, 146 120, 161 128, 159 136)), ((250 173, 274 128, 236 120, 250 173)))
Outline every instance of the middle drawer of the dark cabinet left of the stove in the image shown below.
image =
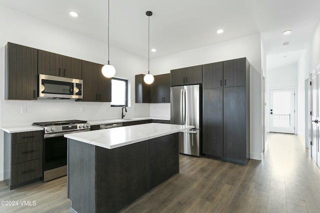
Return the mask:
POLYGON ((12 145, 11 164, 42 158, 42 141, 12 145))

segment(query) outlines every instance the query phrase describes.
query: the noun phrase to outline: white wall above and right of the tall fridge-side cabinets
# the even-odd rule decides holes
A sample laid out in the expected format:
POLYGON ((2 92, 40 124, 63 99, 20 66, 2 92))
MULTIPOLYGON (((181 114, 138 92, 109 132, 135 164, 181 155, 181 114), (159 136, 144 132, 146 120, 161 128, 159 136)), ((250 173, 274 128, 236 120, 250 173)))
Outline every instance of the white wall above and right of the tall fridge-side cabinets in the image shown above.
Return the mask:
MULTIPOLYGON (((261 48, 260 34, 191 49, 150 61, 152 74, 171 69, 247 57, 250 67, 250 158, 261 160, 261 48)), ((150 108, 154 105, 150 104, 150 108)), ((166 109, 169 114, 169 108, 166 109)), ((151 113, 150 109, 150 113, 151 113)), ((154 112, 152 112, 153 114, 154 112)), ((156 116, 156 114, 154 114, 156 116)))

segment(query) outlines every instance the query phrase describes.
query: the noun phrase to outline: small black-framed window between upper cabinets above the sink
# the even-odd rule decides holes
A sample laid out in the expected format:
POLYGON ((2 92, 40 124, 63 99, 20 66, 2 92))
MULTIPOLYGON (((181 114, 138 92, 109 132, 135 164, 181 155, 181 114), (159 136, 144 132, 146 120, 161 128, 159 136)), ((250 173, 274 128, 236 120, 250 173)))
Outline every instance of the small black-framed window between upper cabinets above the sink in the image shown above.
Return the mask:
POLYGON ((111 107, 128 106, 128 80, 111 79, 111 107))

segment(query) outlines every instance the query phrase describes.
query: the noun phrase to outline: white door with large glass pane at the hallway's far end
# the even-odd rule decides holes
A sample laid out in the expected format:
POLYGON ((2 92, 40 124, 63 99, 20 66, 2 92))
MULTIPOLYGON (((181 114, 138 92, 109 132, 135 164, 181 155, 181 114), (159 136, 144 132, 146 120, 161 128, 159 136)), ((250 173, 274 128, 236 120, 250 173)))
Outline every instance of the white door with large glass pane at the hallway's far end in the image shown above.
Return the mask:
POLYGON ((294 134, 294 89, 270 90, 270 132, 294 134))

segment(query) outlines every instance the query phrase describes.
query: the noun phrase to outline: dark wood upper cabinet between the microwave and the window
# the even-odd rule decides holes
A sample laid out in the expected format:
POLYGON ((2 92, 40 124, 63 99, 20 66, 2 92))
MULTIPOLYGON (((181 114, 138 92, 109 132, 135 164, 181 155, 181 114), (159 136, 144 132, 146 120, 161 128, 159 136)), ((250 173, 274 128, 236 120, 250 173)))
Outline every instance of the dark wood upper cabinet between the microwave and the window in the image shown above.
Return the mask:
POLYGON ((83 98, 88 102, 111 102, 111 78, 101 73, 103 65, 82 60, 83 98))

